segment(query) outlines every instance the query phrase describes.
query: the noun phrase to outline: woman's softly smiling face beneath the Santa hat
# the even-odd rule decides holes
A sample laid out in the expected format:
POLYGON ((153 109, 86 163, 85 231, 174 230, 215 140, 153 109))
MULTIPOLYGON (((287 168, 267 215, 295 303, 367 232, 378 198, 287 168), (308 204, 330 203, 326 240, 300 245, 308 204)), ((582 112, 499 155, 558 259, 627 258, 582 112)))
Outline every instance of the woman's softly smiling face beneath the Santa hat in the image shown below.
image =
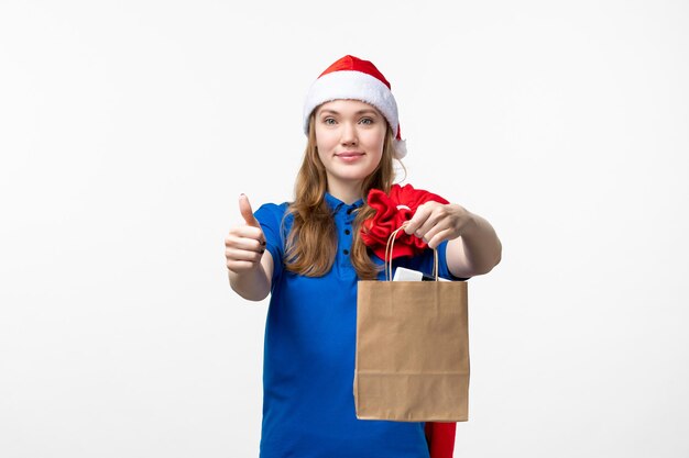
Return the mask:
POLYGON ((387 121, 372 105, 333 100, 316 110, 316 147, 326 167, 328 188, 361 187, 381 161, 387 121))

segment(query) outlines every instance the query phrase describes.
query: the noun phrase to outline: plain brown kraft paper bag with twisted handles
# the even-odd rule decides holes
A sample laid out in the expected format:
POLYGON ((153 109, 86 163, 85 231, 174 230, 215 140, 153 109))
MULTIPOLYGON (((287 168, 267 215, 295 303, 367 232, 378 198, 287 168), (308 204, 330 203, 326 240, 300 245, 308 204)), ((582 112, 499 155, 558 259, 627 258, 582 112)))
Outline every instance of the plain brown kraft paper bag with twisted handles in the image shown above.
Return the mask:
POLYGON ((467 282, 437 281, 436 250, 436 281, 390 281, 400 230, 389 241, 386 281, 358 282, 357 417, 464 422, 469 395, 467 282))

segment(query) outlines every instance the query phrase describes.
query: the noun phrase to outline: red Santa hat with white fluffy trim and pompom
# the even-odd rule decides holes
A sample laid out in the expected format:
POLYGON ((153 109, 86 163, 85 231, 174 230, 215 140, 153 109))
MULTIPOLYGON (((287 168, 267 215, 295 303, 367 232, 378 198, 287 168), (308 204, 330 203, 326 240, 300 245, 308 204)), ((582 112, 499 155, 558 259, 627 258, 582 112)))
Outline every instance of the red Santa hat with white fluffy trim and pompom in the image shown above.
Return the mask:
POLYGON ((406 156, 406 144, 402 139, 397 103, 391 92, 390 82, 373 63, 354 56, 336 60, 311 85, 304 103, 304 133, 308 135, 308 119, 321 103, 338 99, 361 100, 375 107, 387 120, 395 135, 395 157, 406 156))

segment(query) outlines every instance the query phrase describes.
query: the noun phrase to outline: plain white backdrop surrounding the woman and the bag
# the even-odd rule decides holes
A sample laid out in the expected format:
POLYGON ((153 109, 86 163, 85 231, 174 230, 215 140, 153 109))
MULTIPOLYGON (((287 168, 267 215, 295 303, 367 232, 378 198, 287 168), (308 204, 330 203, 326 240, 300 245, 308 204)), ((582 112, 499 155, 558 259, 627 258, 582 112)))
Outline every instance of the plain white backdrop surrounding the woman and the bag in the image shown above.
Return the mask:
POLYGON ((486 217, 457 457, 689 456, 685 1, 0 2, 0 455, 255 457, 310 82, 393 85, 405 182, 486 217))

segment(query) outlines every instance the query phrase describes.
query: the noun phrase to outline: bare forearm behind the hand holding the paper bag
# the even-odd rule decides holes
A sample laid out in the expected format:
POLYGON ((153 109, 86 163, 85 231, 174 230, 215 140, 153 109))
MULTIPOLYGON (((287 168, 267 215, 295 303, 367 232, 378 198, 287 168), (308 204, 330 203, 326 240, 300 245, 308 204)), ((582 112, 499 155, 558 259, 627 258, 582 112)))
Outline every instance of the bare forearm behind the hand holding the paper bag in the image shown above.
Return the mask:
POLYGON ((490 272, 502 258, 502 244, 493 226, 471 213, 461 235, 448 243, 447 262, 456 277, 468 278, 490 272))

